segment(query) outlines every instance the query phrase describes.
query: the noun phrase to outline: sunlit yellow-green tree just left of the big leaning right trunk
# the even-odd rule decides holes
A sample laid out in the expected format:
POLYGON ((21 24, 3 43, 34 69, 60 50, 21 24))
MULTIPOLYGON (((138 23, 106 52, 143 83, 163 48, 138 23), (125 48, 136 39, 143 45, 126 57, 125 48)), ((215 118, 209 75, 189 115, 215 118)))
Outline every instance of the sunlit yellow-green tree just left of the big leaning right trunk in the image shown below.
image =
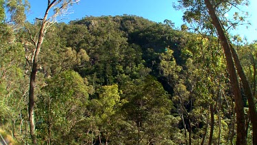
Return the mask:
MULTIPOLYGON (((180 78, 183 79, 180 82, 184 82, 190 92, 189 100, 184 100, 186 100, 186 109, 193 120, 192 126, 194 128, 195 124, 198 126, 200 123, 204 123, 204 127, 198 126, 199 129, 197 129, 201 137, 201 144, 204 144, 206 140, 209 144, 228 144, 221 140, 223 137, 228 139, 225 134, 215 137, 215 132, 224 131, 222 126, 215 131, 216 122, 223 121, 222 115, 228 113, 227 108, 230 108, 230 105, 222 104, 223 101, 228 101, 225 94, 230 95, 230 93, 225 93, 229 91, 229 88, 226 87, 228 86, 226 77, 228 73, 221 52, 222 48, 217 38, 201 34, 187 36, 182 44, 184 45, 180 45, 180 47, 182 47, 182 58, 186 59, 184 67, 186 69, 180 73, 182 74, 180 78), (226 111, 223 111, 225 108, 226 111), (216 116, 218 116, 218 120, 216 116), (197 122, 194 118, 198 118, 197 122)), ((173 82, 176 80, 173 79, 173 82)))

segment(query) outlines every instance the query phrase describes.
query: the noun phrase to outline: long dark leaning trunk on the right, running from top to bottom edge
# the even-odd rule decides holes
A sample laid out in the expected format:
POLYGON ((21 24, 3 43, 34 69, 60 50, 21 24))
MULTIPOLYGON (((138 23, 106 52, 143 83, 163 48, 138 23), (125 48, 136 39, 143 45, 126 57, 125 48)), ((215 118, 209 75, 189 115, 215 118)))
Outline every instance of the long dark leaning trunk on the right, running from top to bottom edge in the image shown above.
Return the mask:
POLYGON ((206 3, 206 6, 208 8, 208 12, 212 19, 212 24, 215 25, 219 35, 219 39, 221 40, 221 45, 225 53, 225 60, 228 67, 228 73, 230 74, 230 84, 232 86, 234 102, 236 104, 236 144, 245 145, 247 143, 245 136, 245 111, 243 109, 243 98, 241 96, 241 91, 236 76, 236 69, 234 67, 232 54, 230 52, 230 43, 228 42, 228 38, 225 36, 223 27, 219 21, 217 14, 215 13, 215 9, 212 7, 212 4, 210 3, 210 0, 204 0, 204 2, 206 3))

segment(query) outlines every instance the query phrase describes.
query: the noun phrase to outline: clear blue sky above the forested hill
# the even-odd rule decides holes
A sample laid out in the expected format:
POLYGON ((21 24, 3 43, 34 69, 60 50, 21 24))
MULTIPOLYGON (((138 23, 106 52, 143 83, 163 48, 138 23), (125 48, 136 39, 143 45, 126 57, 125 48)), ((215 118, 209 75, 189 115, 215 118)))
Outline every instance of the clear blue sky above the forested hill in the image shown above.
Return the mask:
MULTIPOLYGON (((72 14, 66 16, 65 22, 75 19, 82 19, 85 16, 123 15, 134 14, 143 16, 151 21, 163 22, 169 19, 175 23, 175 27, 182 25, 182 12, 175 11, 173 2, 176 0, 81 0, 78 5, 71 8, 72 14)), ((236 31, 240 36, 246 36, 249 42, 257 40, 257 1, 251 1, 249 21, 252 26, 248 30, 241 27, 236 31)), ((42 17, 47 6, 47 0, 29 0, 31 10, 28 13, 28 20, 33 21, 35 17, 42 17)))

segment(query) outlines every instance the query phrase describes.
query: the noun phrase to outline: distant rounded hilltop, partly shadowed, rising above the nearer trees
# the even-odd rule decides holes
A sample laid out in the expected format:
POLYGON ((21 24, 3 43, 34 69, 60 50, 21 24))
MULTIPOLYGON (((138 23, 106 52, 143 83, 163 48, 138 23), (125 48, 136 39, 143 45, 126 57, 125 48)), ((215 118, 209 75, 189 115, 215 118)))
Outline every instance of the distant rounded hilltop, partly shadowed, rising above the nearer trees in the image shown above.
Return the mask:
POLYGON ((173 30, 169 23, 138 16, 86 17, 71 21, 62 33, 68 34, 65 47, 77 52, 85 49, 90 58, 90 71, 77 70, 79 74, 98 74, 101 85, 124 82, 117 75, 132 80, 148 74, 160 77, 160 54, 167 49, 174 51, 177 63, 183 62, 178 47, 183 32, 173 30))

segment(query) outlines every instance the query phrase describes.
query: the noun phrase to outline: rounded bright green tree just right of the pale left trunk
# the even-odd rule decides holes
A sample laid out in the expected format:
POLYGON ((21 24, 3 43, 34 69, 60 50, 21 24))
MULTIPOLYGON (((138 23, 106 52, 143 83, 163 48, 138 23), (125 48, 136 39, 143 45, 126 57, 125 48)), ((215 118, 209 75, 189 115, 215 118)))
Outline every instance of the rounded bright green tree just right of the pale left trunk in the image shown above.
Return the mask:
POLYGON ((88 87, 75 71, 62 71, 46 81, 38 97, 38 137, 47 144, 73 142, 77 124, 85 120, 88 87))

